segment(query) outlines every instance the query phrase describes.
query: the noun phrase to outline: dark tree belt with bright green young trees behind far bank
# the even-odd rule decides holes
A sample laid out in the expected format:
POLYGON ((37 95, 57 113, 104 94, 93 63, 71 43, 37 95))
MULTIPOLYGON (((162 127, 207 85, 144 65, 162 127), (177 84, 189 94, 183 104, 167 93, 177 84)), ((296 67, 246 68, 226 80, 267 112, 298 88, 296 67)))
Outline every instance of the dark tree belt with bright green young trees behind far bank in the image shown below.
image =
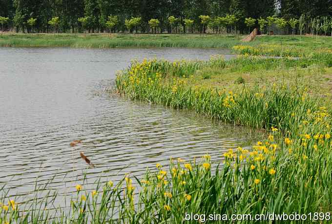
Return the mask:
POLYGON ((331 16, 332 0, 0 0, 2 31, 34 33, 265 33, 275 25, 317 35, 331 29, 331 16))

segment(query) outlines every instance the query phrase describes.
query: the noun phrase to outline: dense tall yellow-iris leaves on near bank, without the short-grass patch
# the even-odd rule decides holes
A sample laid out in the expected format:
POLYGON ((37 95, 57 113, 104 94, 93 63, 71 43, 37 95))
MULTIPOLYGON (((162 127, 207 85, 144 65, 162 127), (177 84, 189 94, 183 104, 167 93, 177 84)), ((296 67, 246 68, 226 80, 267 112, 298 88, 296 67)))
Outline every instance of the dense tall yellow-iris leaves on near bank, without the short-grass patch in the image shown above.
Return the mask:
MULTIPOLYGON (((236 63, 236 60, 229 63, 236 63)), ((245 60, 257 62, 254 58, 245 60)), ((231 214, 251 214, 253 217, 268 212, 307 215, 322 212, 329 216, 332 142, 331 115, 327 110, 331 111, 331 108, 323 107, 319 99, 308 96, 300 87, 271 85, 265 89, 244 88, 238 93, 194 89, 187 85, 188 79, 176 78, 184 71, 173 74, 167 69, 165 72, 165 64, 170 66, 165 61, 155 60, 134 63, 117 77, 119 92, 132 99, 188 108, 271 133, 251 150, 229 150, 223 155, 223 165, 213 172, 207 155, 200 162, 189 162, 184 167, 171 162, 167 177, 160 177, 165 173, 163 171, 152 174, 153 190, 145 193, 144 200, 145 206, 150 207, 157 202, 152 205, 155 210, 149 213, 158 214, 158 222, 184 223, 186 212, 228 214, 228 217, 231 214), (173 79, 169 78, 171 75, 173 79), (171 184, 164 186, 164 179, 171 184), (168 216, 158 213, 159 209, 163 210, 162 205, 168 216)), ((184 63, 178 70, 186 71, 186 66, 184 63)), ((308 222, 310 220, 294 223, 308 222)), ((324 219, 321 222, 329 223, 324 219)))

